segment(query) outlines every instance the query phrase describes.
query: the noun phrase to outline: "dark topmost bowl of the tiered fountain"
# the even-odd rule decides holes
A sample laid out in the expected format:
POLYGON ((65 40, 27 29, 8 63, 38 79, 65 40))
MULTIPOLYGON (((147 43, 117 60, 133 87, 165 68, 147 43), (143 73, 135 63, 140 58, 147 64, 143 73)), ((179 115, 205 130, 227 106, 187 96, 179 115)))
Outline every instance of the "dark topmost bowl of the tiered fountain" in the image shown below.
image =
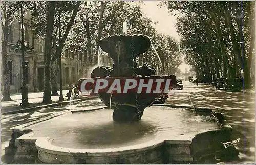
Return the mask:
POLYGON ((135 59, 145 53, 150 45, 150 39, 144 35, 113 35, 100 41, 100 48, 109 53, 114 62, 135 59))

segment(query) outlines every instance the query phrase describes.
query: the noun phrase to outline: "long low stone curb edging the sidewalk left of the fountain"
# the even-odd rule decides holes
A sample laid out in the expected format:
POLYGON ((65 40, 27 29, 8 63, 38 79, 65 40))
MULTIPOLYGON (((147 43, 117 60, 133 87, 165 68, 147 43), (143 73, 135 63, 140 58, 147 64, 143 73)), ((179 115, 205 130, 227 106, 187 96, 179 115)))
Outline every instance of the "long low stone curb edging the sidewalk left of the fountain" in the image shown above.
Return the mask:
MULTIPOLYGON (((98 98, 98 96, 92 96, 92 97, 87 97, 87 98, 82 98, 82 99, 76 99, 73 100, 73 103, 77 103, 79 101, 84 101, 84 100, 90 100, 90 99, 95 99, 98 98)), ((33 111, 33 110, 37 110, 37 109, 41 109, 41 108, 49 108, 49 107, 56 107, 56 106, 60 106, 60 105, 67 105, 69 104, 70 101, 63 101, 63 102, 59 102, 59 103, 52 103, 52 104, 47 104, 47 105, 39 105, 39 106, 34 106, 34 107, 30 107, 30 108, 25 108, 25 109, 20 109, 20 110, 14 110, 14 111, 9 111, 9 112, 2 112, 2 115, 7 115, 7 114, 16 114, 16 113, 24 113, 24 112, 28 112, 28 111, 33 111)))

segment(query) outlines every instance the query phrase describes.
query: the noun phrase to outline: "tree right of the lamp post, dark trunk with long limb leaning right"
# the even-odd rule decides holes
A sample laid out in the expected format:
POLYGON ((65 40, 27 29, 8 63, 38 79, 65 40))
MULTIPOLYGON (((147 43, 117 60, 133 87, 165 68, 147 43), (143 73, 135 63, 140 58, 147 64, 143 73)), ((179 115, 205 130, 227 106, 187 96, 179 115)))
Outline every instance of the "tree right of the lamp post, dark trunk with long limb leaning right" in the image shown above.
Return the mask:
MULTIPOLYGON (((44 2, 43 3, 38 2, 38 3, 40 6, 40 10, 42 11, 42 13, 44 13, 45 8, 48 8, 48 7, 45 7, 44 2)), ((51 78, 50 93, 52 89, 52 95, 58 95, 57 87, 56 87, 56 75, 57 75, 56 73, 58 73, 57 71, 59 68, 57 67, 58 61, 56 61, 56 59, 59 58, 61 51, 65 46, 66 39, 68 38, 69 32, 72 28, 80 3, 81 3, 80 1, 55 3, 54 13, 52 15, 53 27, 55 31, 52 32, 52 37, 51 37, 51 43, 53 44, 51 45, 52 48, 51 48, 51 54, 50 54, 50 65, 49 67, 48 66, 46 67, 45 65, 45 72, 52 73, 51 74, 52 76, 50 76, 51 78), (58 19, 59 17, 61 18, 60 20, 58 19)), ((47 29, 47 24, 45 23, 45 21, 42 21, 46 19, 46 15, 47 14, 45 15, 42 14, 40 17, 32 20, 32 27, 36 30, 36 32, 38 32, 37 33, 38 37, 41 37, 41 38, 44 38, 44 32, 47 29)), ((45 48, 45 51, 46 51, 46 48, 45 48)), ((49 81, 45 81, 45 84, 48 82, 49 81)), ((47 86, 49 86, 49 84, 47 86)), ((48 95, 49 91, 46 91, 44 89, 44 92, 47 93, 44 96, 48 97, 48 99, 44 99, 43 102, 45 102, 45 100, 51 100, 51 95, 48 95)), ((46 101, 46 103, 48 102, 50 101, 46 101)))

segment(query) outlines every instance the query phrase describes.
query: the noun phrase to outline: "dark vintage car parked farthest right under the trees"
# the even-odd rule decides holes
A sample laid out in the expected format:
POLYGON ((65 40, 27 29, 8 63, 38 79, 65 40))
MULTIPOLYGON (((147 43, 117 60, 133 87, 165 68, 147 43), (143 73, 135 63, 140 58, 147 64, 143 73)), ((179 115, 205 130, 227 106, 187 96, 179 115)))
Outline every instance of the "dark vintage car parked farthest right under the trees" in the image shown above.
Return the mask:
POLYGON ((226 78, 224 90, 240 91, 243 88, 243 80, 241 78, 226 78))

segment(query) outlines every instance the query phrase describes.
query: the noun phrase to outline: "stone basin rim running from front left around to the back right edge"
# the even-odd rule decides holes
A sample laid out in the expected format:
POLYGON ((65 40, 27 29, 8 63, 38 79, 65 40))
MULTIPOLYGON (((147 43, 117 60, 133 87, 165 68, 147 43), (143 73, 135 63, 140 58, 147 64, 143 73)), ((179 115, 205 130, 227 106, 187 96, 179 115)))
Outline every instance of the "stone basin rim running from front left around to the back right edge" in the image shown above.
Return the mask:
MULTIPOLYGON (((156 106, 161 106, 161 105, 156 105, 156 106)), ((162 105, 162 106, 168 106, 168 107, 173 107, 173 108, 188 108, 188 109, 193 109, 190 106, 173 106, 173 105, 162 105)), ((207 111, 211 111, 211 109, 206 109, 206 108, 195 108, 197 110, 207 110, 207 111)), ((147 149, 152 149, 158 146, 161 146, 163 144, 191 144, 192 140, 200 134, 204 134, 207 132, 211 132, 211 131, 221 131, 221 130, 226 130, 226 131, 230 131, 230 129, 232 129, 232 127, 227 123, 227 121, 223 121, 221 123, 221 121, 219 121, 219 119, 217 119, 217 117, 215 116, 215 112, 212 112, 212 115, 216 118, 217 123, 219 125, 218 129, 205 129, 202 130, 200 132, 198 132, 196 135, 193 135, 193 137, 190 136, 177 136, 177 137, 172 137, 172 139, 153 139, 153 140, 149 140, 145 143, 140 143, 140 144, 136 144, 136 145, 130 145, 130 146, 125 146, 125 147, 116 147, 116 148, 103 148, 103 149, 87 149, 87 148, 67 148, 67 147, 60 147, 60 146, 55 146, 53 144, 51 144, 51 139, 50 137, 42 137, 42 138, 38 138, 35 142, 36 148, 39 150, 44 150, 46 152, 60 152, 62 154, 70 154, 70 153, 88 153, 88 154, 99 154, 98 156, 100 156, 102 153, 106 154, 108 153, 108 155, 116 155, 116 154, 121 154, 120 152, 140 152, 140 151, 145 151, 147 149), (117 153, 115 153, 117 152, 117 153)), ((31 132, 33 133, 33 132, 31 132)), ((66 155, 65 154, 65 155, 66 155)), ((95 156, 95 155, 94 155, 95 156)))

